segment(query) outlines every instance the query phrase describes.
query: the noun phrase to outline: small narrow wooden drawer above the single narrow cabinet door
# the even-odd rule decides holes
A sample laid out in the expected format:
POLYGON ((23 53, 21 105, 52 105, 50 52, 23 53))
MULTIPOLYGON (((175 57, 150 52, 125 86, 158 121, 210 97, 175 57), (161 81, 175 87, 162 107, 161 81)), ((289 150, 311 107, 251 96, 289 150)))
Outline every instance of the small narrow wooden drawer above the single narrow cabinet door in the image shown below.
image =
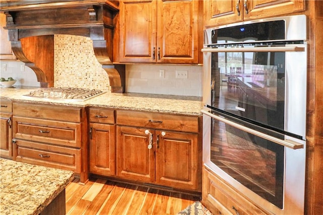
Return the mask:
POLYGON ((91 123, 115 124, 115 111, 90 108, 89 120, 91 123))

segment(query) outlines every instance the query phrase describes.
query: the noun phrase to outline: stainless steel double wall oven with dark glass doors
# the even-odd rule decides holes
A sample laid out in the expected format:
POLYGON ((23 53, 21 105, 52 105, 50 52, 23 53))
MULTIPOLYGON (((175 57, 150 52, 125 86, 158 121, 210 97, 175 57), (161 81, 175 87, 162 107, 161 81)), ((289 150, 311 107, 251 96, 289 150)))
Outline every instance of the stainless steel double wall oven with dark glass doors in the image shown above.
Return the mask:
POLYGON ((304 212, 306 16, 204 31, 203 163, 275 214, 304 212))

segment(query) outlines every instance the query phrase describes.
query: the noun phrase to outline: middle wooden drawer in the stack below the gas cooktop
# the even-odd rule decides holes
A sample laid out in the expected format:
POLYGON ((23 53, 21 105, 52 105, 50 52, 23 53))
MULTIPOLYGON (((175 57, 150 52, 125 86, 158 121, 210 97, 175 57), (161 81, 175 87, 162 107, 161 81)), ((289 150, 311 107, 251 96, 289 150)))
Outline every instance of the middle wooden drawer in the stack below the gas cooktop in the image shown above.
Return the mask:
POLYGON ((13 138, 81 147, 81 123, 13 117, 13 138))

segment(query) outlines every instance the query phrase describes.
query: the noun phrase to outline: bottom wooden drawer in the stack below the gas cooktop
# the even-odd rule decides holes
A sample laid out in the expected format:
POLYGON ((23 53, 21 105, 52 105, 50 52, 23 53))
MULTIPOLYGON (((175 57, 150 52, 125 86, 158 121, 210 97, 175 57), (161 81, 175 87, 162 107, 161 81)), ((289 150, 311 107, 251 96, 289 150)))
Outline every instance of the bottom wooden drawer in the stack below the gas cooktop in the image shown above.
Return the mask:
POLYGON ((81 149, 24 140, 17 140, 14 147, 17 161, 81 173, 81 149))

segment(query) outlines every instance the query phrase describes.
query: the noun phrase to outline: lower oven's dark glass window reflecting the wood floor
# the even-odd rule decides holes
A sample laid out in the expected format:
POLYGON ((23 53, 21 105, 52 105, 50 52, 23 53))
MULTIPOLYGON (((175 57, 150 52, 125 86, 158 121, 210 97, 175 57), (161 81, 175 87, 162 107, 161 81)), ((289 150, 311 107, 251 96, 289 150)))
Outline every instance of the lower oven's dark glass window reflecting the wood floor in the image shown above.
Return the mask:
POLYGON ((211 162, 283 208, 284 146, 212 119, 211 162))

